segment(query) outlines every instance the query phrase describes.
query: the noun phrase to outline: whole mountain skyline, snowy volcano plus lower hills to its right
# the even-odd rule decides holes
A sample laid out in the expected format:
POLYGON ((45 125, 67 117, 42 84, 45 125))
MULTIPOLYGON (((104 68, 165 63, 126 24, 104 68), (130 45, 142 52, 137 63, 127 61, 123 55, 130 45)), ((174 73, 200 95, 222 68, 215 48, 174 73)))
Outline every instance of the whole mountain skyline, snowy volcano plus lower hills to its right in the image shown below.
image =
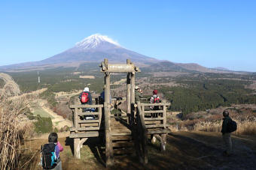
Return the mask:
POLYGON ((222 67, 211 69, 203 67, 200 64, 182 64, 151 58, 146 55, 139 54, 138 52, 133 52, 130 49, 126 49, 110 37, 102 34, 92 34, 89 37, 78 41, 78 43, 75 43, 75 46, 72 48, 49 58, 45 58, 44 60, 0 66, 0 70, 41 70, 49 67, 79 67, 80 64, 85 62, 101 62, 104 58, 108 58, 108 61, 111 63, 125 63, 126 59, 129 58, 139 67, 151 67, 151 65, 153 65, 153 67, 157 67, 157 63, 163 62, 162 66, 160 66, 164 68, 162 70, 171 71, 197 71, 203 73, 232 72, 231 70, 227 70, 222 67), (156 65, 154 66, 154 64, 156 65))

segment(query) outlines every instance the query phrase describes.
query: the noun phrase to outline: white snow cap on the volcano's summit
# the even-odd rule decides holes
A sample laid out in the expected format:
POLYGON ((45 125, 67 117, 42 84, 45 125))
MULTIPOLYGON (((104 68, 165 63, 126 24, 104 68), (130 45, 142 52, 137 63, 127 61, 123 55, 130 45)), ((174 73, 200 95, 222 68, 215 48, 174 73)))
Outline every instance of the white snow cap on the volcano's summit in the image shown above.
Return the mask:
POLYGON ((75 46, 82 49, 95 49, 102 43, 111 43, 115 46, 120 46, 116 41, 102 34, 92 34, 89 37, 84 38, 84 40, 75 43, 75 46))

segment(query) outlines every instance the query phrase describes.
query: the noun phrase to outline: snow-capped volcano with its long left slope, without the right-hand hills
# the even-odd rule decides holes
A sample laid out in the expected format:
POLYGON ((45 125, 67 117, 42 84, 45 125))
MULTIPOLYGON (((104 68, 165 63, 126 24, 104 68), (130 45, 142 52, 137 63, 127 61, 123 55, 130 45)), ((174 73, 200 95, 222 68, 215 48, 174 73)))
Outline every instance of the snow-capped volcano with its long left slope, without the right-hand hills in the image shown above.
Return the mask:
POLYGON ((129 58, 136 64, 148 65, 159 62, 156 58, 150 58, 125 49, 108 36, 93 34, 75 43, 71 49, 67 49, 42 61, 27 62, 22 64, 11 64, 0 67, 0 70, 27 70, 46 67, 77 66, 84 62, 101 62, 104 58, 112 63, 123 63, 129 58))

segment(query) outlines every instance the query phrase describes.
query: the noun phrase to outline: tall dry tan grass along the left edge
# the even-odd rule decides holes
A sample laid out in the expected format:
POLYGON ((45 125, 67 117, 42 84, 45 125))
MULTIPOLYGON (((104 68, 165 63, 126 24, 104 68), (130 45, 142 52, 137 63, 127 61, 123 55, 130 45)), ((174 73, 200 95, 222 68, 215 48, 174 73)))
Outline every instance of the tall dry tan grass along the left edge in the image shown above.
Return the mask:
POLYGON ((21 144, 28 124, 20 122, 20 116, 26 112, 31 99, 17 97, 11 100, 11 83, 5 84, 0 94, 0 169, 20 169, 21 144))

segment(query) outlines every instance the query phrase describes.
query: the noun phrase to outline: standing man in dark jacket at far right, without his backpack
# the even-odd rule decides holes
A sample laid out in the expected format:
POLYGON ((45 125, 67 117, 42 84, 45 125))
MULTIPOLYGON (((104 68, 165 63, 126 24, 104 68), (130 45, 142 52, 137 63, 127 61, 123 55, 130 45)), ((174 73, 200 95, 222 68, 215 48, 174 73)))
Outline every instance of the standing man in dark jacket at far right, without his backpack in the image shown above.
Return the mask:
POLYGON ((225 156, 229 156, 232 152, 232 142, 231 142, 231 133, 228 131, 228 124, 231 121, 231 118, 229 116, 229 112, 227 110, 224 110, 223 112, 223 122, 222 122, 222 138, 224 140, 226 151, 224 151, 225 156))

